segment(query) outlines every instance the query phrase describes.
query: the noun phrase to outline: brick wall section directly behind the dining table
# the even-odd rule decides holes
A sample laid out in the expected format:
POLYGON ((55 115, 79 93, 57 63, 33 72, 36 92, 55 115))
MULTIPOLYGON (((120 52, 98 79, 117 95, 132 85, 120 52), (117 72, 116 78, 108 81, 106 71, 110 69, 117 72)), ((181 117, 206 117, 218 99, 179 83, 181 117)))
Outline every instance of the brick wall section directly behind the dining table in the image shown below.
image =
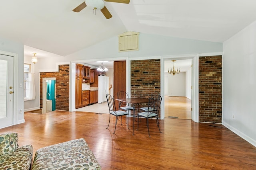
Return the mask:
POLYGON ((131 61, 131 97, 160 93, 160 59, 131 61))

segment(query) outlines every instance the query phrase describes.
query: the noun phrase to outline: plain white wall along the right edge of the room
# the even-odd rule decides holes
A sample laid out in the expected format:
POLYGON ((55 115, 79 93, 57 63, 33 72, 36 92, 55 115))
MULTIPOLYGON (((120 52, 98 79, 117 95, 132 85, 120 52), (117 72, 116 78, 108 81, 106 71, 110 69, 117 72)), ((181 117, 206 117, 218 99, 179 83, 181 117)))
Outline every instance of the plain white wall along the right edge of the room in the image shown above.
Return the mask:
POLYGON ((223 125, 256 147, 256 21, 223 49, 223 125))

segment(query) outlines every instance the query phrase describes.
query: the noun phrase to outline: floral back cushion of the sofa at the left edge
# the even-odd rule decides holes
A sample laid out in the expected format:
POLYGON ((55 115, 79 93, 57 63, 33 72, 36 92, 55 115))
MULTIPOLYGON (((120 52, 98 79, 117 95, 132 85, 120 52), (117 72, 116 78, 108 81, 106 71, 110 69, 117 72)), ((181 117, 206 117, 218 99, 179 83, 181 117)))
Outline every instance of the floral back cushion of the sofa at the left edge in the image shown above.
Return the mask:
POLYGON ((18 147, 18 133, 0 135, 0 155, 14 152, 18 147))

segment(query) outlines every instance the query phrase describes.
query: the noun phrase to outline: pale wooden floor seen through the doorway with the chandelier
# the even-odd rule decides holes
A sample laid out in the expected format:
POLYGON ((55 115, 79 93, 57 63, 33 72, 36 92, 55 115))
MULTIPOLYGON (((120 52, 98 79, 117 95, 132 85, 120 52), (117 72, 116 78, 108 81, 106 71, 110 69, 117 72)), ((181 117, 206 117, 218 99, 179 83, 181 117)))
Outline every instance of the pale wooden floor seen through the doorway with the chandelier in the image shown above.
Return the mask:
POLYGON ((186 97, 164 96, 164 117, 192 119, 191 100, 186 97))

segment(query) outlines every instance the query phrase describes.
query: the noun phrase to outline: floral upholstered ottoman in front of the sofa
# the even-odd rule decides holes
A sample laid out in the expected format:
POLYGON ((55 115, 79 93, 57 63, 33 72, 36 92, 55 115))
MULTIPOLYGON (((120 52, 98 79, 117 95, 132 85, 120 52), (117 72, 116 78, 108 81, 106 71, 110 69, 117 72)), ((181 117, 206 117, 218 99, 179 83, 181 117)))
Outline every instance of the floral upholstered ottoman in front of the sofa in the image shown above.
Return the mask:
POLYGON ((32 170, 101 170, 101 167, 81 138, 38 149, 32 170))

